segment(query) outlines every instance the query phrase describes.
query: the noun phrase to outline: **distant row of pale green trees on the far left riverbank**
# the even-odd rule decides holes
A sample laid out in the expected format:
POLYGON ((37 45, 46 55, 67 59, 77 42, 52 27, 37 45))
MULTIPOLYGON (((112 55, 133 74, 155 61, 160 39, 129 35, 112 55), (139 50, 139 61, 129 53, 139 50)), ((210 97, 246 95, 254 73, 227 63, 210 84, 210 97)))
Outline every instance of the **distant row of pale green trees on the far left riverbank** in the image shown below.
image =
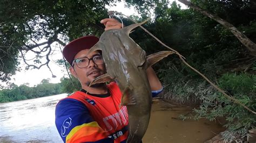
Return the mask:
POLYGON ((61 93, 63 93, 63 91, 61 90, 60 83, 49 83, 48 79, 42 80, 41 83, 34 87, 29 87, 26 83, 19 86, 12 83, 9 86, 9 89, 0 90, 0 103, 57 95, 61 93))

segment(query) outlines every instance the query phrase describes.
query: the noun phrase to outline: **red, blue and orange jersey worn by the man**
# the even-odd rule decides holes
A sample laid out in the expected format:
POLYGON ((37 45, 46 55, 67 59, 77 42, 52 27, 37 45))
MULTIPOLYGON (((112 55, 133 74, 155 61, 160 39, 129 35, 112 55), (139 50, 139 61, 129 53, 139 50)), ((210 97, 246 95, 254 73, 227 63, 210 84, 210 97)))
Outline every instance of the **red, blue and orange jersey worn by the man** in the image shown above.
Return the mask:
POLYGON ((108 89, 106 95, 81 90, 59 101, 55 124, 64 142, 126 142, 128 114, 126 106, 119 107, 122 92, 115 82, 108 89))

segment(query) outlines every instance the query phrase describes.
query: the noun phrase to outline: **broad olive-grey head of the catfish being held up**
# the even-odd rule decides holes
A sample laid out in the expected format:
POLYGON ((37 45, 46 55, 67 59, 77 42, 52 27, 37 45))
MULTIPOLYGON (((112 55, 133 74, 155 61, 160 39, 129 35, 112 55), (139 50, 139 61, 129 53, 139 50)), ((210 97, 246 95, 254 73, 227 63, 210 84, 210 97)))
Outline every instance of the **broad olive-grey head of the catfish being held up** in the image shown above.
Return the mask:
POLYGON ((129 34, 134 28, 144 23, 105 31, 88 53, 102 50, 104 61, 129 61, 134 66, 142 66, 146 59, 146 52, 129 37, 129 34))

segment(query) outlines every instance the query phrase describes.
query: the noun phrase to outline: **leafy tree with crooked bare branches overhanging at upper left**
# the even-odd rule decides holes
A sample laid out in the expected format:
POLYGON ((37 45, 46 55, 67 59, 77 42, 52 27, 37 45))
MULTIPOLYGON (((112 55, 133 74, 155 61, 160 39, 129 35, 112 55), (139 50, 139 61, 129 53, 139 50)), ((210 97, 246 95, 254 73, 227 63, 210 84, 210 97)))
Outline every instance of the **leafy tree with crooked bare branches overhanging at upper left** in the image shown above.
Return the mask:
MULTIPOLYGON (((28 68, 49 67, 52 44, 65 43, 83 35, 100 35, 107 17, 108 2, 93 1, 6 1, 0 2, 0 80, 7 81, 21 57, 28 68), (42 41, 45 39, 46 41, 42 41), (35 54, 32 62, 25 54, 35 54), (20 54, 19 54, 20 53, 20 54), (42 58, 45 62, 42 62, 42 58)), ((52 76, 54 77, 53 73, 52 76)))

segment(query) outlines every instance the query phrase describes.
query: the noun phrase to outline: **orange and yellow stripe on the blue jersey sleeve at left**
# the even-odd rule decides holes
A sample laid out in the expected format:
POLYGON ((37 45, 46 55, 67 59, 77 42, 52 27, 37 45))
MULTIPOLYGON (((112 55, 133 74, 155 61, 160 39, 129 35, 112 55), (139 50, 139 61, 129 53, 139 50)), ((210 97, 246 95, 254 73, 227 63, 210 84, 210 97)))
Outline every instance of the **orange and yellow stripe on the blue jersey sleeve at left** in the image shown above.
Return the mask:
POLYGON ((91 123, 74 127, 67 135, 66 142, 79 141, 82 138, 87 139, 87 141, 96 141, 107 138, 107 135, 96 121, 92 121, 91 123), (91 135, 93 138, 90 138, 91 135))

